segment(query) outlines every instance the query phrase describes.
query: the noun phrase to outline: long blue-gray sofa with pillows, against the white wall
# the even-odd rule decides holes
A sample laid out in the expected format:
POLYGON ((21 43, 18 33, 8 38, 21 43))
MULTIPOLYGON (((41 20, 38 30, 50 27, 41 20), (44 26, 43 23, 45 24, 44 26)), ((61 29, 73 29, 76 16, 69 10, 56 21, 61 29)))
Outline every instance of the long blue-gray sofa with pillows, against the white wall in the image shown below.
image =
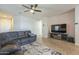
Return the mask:
POLYGON ((19 46, 36 41, 36 35, 31 31, 14 31, 0 33, 0 50, 6 44, 14 43, 19 46))

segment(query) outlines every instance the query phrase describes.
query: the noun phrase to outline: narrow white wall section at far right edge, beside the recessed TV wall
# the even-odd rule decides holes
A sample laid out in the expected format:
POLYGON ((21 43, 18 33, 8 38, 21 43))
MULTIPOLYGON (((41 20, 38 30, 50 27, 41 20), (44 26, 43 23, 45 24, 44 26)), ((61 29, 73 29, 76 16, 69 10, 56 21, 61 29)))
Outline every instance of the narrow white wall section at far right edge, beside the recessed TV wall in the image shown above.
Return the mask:
POLYGON ((75 8, 75 44, 79 45, 79 5, 75 8))

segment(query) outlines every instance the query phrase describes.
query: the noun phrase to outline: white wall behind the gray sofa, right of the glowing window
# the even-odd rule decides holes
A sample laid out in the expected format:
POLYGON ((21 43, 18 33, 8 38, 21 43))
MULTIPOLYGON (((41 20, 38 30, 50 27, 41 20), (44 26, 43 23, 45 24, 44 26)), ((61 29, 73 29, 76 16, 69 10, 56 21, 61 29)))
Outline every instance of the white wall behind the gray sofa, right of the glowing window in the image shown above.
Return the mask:
POLYGON ((14 31, 31 30, 33 33, 40 35, 39 21, 27 16, 16 15, 14 18, 14 31))

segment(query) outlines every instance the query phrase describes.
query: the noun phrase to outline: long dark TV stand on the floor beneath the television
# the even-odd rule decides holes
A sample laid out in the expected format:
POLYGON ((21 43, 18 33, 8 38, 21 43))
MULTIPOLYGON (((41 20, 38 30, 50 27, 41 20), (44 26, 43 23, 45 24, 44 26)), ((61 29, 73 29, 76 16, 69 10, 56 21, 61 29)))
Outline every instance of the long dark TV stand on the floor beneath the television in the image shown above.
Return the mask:
POLYGON ((74 38, 68 36, 67 33, 52 32, 52 33, 50 33, 50 37, 52 37, 54 39, 65 40, 65 41, 68 41, 68 42, 75 43, 74 38))

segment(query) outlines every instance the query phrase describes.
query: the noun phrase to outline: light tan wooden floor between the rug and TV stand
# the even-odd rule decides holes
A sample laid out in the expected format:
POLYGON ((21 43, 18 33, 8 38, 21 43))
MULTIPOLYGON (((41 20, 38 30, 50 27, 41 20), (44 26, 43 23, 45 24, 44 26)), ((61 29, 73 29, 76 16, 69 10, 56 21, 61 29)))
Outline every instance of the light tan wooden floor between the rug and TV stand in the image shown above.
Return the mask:
POLYGON ((73 43, 53 38, 43 38, 42 42, 44 45, 61 52, 64 55, 79 55, 79 46, 76 46, 73 43))

